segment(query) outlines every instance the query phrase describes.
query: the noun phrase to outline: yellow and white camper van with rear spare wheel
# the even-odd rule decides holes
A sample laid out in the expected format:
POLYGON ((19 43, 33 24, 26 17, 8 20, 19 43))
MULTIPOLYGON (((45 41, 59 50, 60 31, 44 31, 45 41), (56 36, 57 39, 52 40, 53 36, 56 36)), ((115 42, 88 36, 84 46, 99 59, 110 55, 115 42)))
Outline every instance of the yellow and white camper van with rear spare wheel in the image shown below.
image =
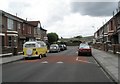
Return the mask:
POLYGON ((23 56, 39 57, 47 56, 47 46, 43 41, 28 41, 23 44, 23 56))

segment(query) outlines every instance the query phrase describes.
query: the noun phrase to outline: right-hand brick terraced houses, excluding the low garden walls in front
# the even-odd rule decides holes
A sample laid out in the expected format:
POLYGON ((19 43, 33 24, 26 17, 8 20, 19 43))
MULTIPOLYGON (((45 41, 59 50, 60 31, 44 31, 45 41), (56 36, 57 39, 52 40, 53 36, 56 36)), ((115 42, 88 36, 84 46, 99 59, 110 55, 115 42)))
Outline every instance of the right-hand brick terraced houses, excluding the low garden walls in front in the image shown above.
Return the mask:
POLYGON ((120 11, 94 33, 97 42, 120 44, 120 11))

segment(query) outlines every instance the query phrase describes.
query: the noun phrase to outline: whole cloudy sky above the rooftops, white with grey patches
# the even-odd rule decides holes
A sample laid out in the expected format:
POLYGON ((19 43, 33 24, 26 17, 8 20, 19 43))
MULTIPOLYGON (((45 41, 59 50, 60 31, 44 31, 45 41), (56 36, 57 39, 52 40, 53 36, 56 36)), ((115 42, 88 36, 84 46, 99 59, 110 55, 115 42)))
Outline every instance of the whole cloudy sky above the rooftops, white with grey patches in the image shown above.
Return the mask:
POLYGON ((27 20, 40 20, 59 37, 91 36, 118 7, 119 0, 0 0, 0 10, 27 20))

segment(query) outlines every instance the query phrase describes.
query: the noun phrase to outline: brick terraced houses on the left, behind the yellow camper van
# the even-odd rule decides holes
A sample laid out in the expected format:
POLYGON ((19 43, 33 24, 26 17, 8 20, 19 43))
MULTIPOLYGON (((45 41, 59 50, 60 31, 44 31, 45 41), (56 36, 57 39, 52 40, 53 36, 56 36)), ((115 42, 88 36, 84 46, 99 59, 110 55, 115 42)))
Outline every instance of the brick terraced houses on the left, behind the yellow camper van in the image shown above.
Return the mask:
MULTIPOLYGON (((2 54, 19 54, 23 43, 31 40, 44 40, 41 38, 40 21, 27 21, 15 15, 0 10, 2 54), (34 22, 37 24, 35 25, 34 22)), ((47 31, 47 30, 46 30, 47 31)), ((46 34, 46 33, 45 33, 46 34)))

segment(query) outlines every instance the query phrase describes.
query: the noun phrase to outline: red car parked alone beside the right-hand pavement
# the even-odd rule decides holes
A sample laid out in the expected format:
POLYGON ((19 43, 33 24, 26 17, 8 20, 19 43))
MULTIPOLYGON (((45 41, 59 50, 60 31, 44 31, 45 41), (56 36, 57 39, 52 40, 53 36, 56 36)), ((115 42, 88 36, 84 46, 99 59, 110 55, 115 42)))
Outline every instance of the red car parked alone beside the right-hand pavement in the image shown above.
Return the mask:
POLYGON ((82 54, 92 55, 91 47, 88 44, 81 43, 78 47, 78 56, 82 54))

